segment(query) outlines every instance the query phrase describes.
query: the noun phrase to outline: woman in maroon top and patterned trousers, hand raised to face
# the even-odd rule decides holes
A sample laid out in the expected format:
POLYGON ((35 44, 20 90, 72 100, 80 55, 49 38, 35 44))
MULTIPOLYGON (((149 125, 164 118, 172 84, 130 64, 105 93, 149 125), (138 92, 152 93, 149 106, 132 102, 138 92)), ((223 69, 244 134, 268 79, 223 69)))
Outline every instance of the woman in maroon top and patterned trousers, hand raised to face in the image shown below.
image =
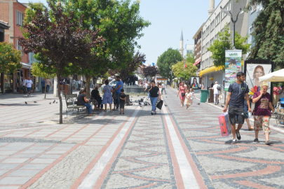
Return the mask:
POLYGON ((269 141, 269 120, 271 118, 271 111, 274 112, 273 106, 271 104, 270 94, 267 92, 269 85, 265 82, 261 85, 262 90, 255 92, 253 94, 252 102, 255 103, 255 142, 258 142, 258 132, 259 130, 264 130, 265 134, 265 144, 273 144, 269 141), (262 128, 263 127, 263 128, 262 128))

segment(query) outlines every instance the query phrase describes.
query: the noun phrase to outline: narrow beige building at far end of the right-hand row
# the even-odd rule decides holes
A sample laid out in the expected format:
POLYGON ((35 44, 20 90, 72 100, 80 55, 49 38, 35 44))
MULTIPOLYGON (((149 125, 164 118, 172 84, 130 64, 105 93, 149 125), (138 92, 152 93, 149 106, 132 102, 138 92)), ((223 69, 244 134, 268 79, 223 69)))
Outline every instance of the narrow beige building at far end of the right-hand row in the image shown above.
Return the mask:
MULTIPOLYGON (((204 25, 204 23, 203 23, 204 25)), ((197 66, 196 76, 199 76, 200 72, 200 62, 201 62, 201 33, 203 29, 203 25, 196 31, 196 34, 194 35, 194 66, 197 66)))

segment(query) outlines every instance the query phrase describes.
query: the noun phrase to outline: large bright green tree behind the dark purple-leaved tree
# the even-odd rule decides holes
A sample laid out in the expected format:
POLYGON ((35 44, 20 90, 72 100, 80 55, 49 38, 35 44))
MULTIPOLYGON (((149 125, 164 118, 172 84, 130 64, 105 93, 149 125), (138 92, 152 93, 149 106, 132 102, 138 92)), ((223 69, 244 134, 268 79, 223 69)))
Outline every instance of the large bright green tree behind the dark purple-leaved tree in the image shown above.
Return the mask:
MULTIPOLYGON (((51 1, 56 4, 59 0, 51 1)), ((133 62, 133 50, 135 47, 140 48, 136 40, 144 35, 142 29, 151 24, 141 18, 139 1, 130 3, 130 0, 63 0, 63 2, 66 13, 74 11, 75 18, 84 15, 82 25, 84 29, 99 28, 99 34, 107 40, 97 49, 99 64, 90 66, 89 69, 95 69, 95 73, 106 72, 109 69, 121 71, 126 69, 126 62, 127 64, 133 62)), ((121 75, 123 76, 123 73, 121 75)))

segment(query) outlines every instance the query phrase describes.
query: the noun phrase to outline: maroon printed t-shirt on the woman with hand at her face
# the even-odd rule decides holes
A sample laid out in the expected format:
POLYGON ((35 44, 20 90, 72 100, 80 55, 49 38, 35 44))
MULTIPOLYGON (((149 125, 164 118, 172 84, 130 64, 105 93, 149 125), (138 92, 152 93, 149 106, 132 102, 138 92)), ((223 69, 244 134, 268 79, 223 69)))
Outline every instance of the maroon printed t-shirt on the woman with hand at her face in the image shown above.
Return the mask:
MULTIPOLYGON (((253 94, 253 98, 259 97, 260 92, 255 92, 253 94)), ((269 107, 270 94, 266 92, 266 94, 262 94, 262 97, 255 102, 255 116, 271 116, 271 109, 269 107)))

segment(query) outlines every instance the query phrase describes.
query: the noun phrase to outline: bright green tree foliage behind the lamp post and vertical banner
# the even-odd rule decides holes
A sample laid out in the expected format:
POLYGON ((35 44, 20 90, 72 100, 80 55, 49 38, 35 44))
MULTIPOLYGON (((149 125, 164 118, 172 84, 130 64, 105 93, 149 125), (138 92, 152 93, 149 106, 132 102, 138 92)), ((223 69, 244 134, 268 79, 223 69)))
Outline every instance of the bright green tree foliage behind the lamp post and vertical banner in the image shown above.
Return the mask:
MULTIPOLYGON (((208 50, 212 52, 212 60, 214 66, 224 66, 225 65, 225 50, 226 48, 233 49, 233 35, 229 32, 229 27, 226 26, 223 32, 218 32, 219 39, 215 40, 213 45, 210 45, 208 50)), ((238 50, 243 50, 243 55, 248 53, 250 49, 250 44, 246 44, 248 36, 242 37, 235 32, 235 48, 238 50)))

